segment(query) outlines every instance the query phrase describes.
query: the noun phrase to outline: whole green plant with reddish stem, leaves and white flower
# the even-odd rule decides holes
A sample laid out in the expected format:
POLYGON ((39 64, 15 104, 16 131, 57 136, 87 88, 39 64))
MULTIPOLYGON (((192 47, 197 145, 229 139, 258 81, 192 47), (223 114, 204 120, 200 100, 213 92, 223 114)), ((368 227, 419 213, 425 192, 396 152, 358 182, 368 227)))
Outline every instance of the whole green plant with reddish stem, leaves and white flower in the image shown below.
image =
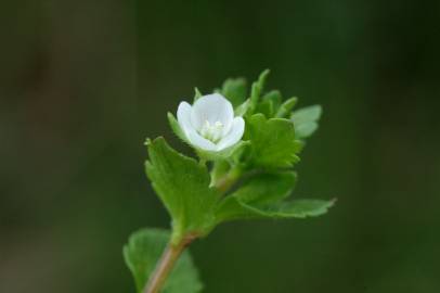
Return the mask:
POLYGON ((198 160, 171 149, 164 138, 146 140, 146 174, 171 216, 171 231, 133 233, 124 256, 139 293, 194 293, 203 289, 185 249, 218 225, 240 219, 305 218, 327 212, 334 200, 287 200, 305 140, 318 128, 319 105, 293 112, 297 99, 263 91, 269 71, 251 85, 228 79, 194 104, 182 102, 174 133, 198 160))

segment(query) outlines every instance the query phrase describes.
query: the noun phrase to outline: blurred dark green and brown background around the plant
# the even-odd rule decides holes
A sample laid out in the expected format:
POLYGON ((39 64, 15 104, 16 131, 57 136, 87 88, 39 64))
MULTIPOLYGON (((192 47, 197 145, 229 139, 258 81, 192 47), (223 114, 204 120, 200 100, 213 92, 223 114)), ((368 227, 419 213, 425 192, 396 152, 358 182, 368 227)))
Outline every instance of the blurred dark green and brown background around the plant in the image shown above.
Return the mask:
POLYGON ((440 292, 439 1, 0 5, 0 292, 134 292, 122 244, 169 225, 144 139, 267 67, 324 107, 295 195, 338 203, 196 242, 206 292, 440 292))

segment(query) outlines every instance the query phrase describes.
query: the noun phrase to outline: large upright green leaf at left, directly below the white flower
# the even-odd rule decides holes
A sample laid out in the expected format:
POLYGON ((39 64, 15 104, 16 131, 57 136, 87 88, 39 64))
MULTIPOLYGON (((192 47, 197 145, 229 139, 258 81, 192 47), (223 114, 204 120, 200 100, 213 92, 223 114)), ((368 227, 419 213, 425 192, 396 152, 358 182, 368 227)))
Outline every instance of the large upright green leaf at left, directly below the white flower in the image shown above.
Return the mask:
POLYGON ((217 190, 210 176, 194 158, 172 150, 164 138, 148 141, 146 174, 172 219, 172 242, 185 234, 206 234, 213 224, 217 190))

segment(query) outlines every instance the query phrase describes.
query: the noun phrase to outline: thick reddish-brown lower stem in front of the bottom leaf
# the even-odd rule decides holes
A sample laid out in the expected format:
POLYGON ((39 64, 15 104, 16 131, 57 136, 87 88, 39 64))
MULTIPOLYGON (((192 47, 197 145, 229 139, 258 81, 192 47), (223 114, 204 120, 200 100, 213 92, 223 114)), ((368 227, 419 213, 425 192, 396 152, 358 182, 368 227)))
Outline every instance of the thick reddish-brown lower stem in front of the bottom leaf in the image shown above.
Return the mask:
POLYGON ((194 239, 195 237, 190 235, 184 238, 178 244, 172 244, 171 242, 168 243, 164 254, 161 255, 159 262, 157 263, 156 268, 143 291, 144 293, 160 292, 160 289, 165 284, 168 275, 174 267, 176 262, 179 259, 182 252, 186 249, 187 245, 190 245, 190 243, 194 239))

